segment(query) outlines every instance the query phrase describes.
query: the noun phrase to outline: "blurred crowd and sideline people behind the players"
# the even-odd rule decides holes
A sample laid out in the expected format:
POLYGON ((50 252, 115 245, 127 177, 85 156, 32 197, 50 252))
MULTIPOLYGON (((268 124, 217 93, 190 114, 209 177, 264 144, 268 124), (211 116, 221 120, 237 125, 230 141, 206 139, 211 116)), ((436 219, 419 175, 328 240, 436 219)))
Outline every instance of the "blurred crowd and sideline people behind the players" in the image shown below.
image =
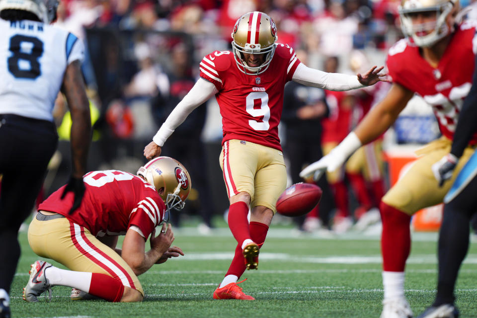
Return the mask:
MULTIPOLYGON (((388 49, 402 38, 398 0, 60 3, 56 25, 77 35, 87 48, 82 71, 94 129, 88 170, 137 171, 145 161, 145 145, 197 80, 202 57, 215 50, 231 49, 232 28, 243 13, 268 13, 277 24, 278 42, 292 46, 307 66, 326 72, 356 74, 373 65, 384 65, 388 49)), ((464 0, 461 5, 471 8, 474 3, 464 0)), ((474 12, 470 11, 469 18, 474 12)), ((388 88, 380 83, 345 93, 287 84, 280 134, 289 183, 302 181, 298 177, 301 168, 339 143, 388 88)), ((71 120, 65 103, 58 96, 54 114, 61 142, 39 200, 64 184, 69 175, 71 120)), ((297 227, 341 233, 362 216, 379 219, 377 204, 396 178, 392 160, 411 158, 415 145, 438 135, 430 107, 416 96, 391 132, 363 149, 360 158, 350 160, 342 171, 320 181, 324 194, 319 211, 296 220, 297 227)), ((186 210, 173 219, 176 226, 184 217, 196 215, 206 233, 214 226, 212 217, 228 208, 218 164, 221 138, 221 118, 213 99, 193 111, 166 142, 163 155, 188 168, 193 186, 186 210)))

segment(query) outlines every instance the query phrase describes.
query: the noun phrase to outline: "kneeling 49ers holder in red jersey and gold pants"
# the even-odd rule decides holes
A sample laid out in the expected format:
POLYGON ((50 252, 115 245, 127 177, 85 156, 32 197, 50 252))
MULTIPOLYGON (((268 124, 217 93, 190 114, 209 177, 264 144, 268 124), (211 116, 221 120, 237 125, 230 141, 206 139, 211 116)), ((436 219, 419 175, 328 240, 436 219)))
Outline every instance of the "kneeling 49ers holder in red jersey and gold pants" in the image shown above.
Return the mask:
POLYGON ((138 175, 92 171, 83 181, 84 199, 75 212, 69 213, 73 194, 61 200, 63 186, 40 204, 28 228, 32 250, 70 270, 37 260, 23 299, 37 302, 46 290, 51 298, 51 287, 61 285, 74 288, 74 300, 96 296, 110 302, 140 302, 144 291, 137 276, 169 257, 184 255, 179 247, 170 246, 174 234, 163 222, 170 209, 184 207, 189 173, 176 160, 159 157, 142 166, 138 175), (116 248, 119 235, 125 235, 122 250, 116 248), (151 249, 145 252, 149 236, 151 249))

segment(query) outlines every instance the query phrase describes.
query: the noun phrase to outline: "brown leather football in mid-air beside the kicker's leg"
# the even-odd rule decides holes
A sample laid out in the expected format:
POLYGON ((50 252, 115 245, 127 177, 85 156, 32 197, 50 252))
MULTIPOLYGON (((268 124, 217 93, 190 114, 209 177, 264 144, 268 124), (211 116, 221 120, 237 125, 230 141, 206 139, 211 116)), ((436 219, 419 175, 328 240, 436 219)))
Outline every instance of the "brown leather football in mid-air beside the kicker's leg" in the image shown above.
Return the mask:
POLYGON ((277 212, 298 217, 310 212, 321 199, 321 188, 313 183, 295 183, 283 191, 277 200, 277 212))

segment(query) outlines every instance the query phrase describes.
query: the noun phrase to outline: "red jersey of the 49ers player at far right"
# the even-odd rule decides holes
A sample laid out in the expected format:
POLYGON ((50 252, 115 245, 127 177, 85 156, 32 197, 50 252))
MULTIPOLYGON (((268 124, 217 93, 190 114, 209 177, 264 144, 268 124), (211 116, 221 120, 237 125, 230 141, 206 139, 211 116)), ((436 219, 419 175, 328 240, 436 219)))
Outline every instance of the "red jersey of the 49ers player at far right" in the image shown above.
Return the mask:
POLYGON ((422 58, 419 47, 406 40, 398 41, 388 53, 393 82, 421 95, 432 106, 441 133, 449 139, 454 136, 464 98, 472 86, 476 41, 475 22, 461 24, 437 68, 422 58))

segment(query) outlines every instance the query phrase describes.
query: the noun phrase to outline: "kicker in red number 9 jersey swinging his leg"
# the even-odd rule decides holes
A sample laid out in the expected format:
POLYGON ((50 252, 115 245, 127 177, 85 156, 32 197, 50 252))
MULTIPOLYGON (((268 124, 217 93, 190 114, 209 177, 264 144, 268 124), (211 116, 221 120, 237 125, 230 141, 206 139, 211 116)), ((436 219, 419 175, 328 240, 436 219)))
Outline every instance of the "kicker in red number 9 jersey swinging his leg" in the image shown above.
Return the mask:
POLYGON ((278 124, 284 85, 294 80, 308 86, 348 90, 386 80, 373 67, 365 75, 349 76, 310 69, 287 44, 277 43, 273 20, 249 12, 232 31, 232 52, 215 51, 200 62, 200 79, 172 110, 146 146, 144 155, 160 155, 161 147, 187 115, 215 95, 222 114, 220 164, 230 199, 229 228, 238 245, 229 270, 215 290, 215 299, 253 300, 237 285, 245 269, 256 269, 275 204, 286 187, 278 124), (251 210, 250 222, 247 220, 251 210))

